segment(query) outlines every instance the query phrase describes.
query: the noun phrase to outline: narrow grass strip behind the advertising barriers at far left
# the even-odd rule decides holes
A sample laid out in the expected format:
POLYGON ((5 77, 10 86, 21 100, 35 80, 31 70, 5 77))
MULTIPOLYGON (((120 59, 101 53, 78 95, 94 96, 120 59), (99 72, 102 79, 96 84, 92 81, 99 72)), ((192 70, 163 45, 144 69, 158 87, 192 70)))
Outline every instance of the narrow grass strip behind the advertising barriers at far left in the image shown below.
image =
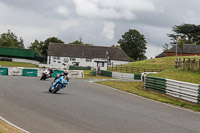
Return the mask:
POLYGON ((2 67, 32 67, 38 68, 37 65, 23 62, 12 62, 12 61, 0 61, 2 67))

